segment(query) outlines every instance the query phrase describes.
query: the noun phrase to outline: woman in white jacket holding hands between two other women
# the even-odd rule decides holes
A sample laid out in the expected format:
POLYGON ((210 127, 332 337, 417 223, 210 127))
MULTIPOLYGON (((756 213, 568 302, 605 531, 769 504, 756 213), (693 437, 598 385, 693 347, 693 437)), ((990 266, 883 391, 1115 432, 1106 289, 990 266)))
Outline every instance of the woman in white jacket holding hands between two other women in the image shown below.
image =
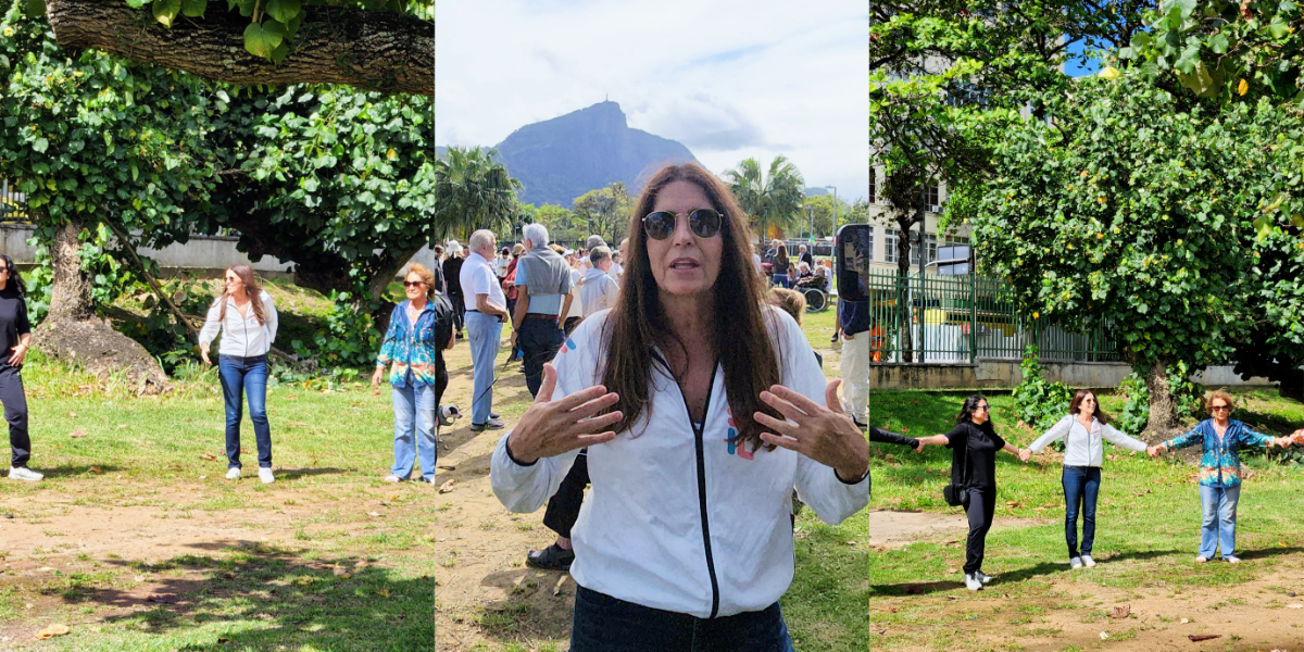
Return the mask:
POLYGON ((1128 450, 1144 451, 1145 442, 1133 439, 1110 425, 1110 416, 1101 409, 1095 393, 1077 390, 1068 404, 1068 416, 1060 419, 1046 434, 1037 438, 1024 462, 1048 443, 1064 438, 1064 540, 1068 542, 1068 565, 1072 569, 1095 566, 1091 544, 1095 542, 1095 498, 1101 493, 1101 463, 1104 439, 1128 450), (1077 514, 1082 512, 1082 548, 1077 546, 1077 514))

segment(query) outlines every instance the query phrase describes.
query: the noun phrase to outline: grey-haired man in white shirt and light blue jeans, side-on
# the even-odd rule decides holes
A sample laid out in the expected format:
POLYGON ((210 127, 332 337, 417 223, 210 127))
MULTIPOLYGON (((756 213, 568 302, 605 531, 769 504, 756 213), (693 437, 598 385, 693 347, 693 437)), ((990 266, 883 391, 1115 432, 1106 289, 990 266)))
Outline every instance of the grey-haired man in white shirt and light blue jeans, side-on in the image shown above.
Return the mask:
POLYGON ((471 339, 471 364, 475 373, 475 389, 471 402, 471 432, 503 428, 502 419, 492 412, 494 359, 498 357, 498 344, 502 339, 502 322, 509 319, 507 297, 498 284, 493 263, 493 231, 480 230, 471 233, 471 256, 462 263, 463 301, 467 308, 467 335, 471 339))

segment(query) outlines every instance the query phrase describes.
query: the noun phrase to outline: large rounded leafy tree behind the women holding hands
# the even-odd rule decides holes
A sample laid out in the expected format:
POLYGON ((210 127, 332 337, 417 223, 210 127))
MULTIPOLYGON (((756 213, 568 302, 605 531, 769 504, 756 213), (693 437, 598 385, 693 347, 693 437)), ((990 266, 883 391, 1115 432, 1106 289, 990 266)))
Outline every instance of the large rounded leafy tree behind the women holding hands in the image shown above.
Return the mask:
POLYGON ((1262 145, 1283 115, 1179 112, 1142 77, 1042 99, 1054 121, 1029 120, 998 147, 1000 176, 973 220, 981 262, 1034 319, 1114 329, 1146 374, 1150 428, 1171 429, 1170 369, 1226 361, 1252 321, 1252 219, 1277 173, 1262 145))

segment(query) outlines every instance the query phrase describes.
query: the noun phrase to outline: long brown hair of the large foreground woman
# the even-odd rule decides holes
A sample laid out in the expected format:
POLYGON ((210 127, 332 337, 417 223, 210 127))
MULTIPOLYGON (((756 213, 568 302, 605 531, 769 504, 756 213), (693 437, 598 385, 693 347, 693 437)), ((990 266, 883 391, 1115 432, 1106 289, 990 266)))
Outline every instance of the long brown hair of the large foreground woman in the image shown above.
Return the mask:
POLYGON ((720 365, 724 368, 729 408, 733 412, 738 439, 762 445, 762 425, 752 419, 755 412, 765 412, 776 419, 782 416, 760 402, 760 393, 778 383, 781 355, 769 338, 771 326, 777 327, 772 308, 765 305, 765 288, 751 258, 751 230, 729 188, 695 163, 666 166, 648 181, 630 215, 629 249, 625 252, 625 275, 621 295, 606 318, 604 340, 608 355, 602 385, 619 394, 612 409, 618 409, 621 421, 612 429, 623 432, 632 428, 649 409, 652 385, 652 347, 678 346, 686 349, 670 327, 661 308, 660 288, 652 276, 648 261, 647 233, 643 218, 652 213, 657 194, 674 181, 687 181, 702 188, 711 200, 711 207, 724 215, 720 237, 724 246, 720 275, 712 288, 713 329, 703 334, 709 339, 720 365))

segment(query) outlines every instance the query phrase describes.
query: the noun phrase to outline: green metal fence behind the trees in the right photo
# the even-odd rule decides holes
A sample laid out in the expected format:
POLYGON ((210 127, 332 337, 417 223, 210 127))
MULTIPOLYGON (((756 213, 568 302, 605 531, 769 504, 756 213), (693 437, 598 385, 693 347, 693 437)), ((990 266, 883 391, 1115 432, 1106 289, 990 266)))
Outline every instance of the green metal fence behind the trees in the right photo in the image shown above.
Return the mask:
POLYGON ((871 363, 973 363, 979 357, 1018 360, 1035 344, 1042 360, 1114 361, 1118 346, 1107 329, 1076 334, 1018 314, 1013 288, 985 276, 943 276, 871 271, 871 363))

